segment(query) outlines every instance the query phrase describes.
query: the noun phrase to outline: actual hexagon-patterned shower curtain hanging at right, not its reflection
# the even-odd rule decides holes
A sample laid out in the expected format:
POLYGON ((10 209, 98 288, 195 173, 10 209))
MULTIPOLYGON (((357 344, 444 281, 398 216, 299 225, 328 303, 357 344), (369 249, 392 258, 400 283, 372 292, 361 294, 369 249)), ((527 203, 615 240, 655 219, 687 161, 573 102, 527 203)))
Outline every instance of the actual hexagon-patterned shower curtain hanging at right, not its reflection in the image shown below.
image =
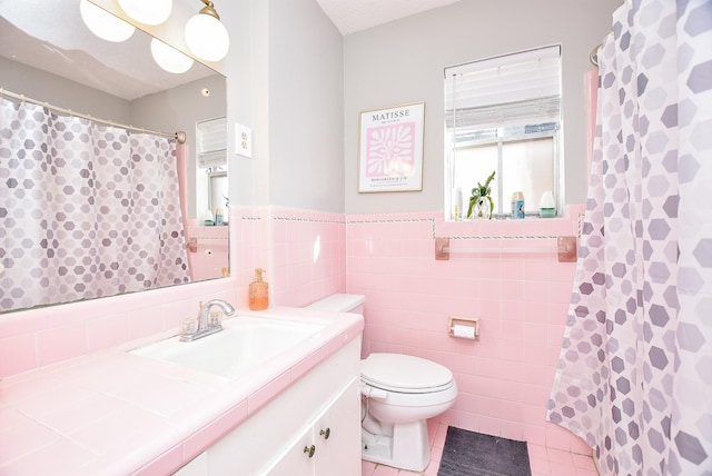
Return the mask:
POLYGON ((547 418, 603 475, 712 475, 712 1, 626 1, 547 418))

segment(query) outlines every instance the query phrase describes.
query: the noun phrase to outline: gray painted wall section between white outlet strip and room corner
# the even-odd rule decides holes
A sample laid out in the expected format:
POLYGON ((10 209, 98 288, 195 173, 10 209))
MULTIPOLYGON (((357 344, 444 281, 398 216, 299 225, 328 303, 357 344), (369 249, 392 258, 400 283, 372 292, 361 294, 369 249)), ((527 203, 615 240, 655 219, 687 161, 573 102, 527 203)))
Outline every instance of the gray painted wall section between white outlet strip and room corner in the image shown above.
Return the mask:
POLYGON ((268 21, 270 204, 344 212, 343 37, 314 0, 268 21))

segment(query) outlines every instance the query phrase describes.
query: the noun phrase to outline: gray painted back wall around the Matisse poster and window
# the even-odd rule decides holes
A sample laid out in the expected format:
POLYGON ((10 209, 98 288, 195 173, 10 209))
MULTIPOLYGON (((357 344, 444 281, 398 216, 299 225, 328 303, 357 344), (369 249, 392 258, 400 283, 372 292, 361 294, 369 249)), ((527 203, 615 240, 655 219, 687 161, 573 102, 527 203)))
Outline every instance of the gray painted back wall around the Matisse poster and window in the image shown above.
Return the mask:
POLYGON ((561 43, 565 202, 585 201, 584 73, 620 0, 463 0, 344 39, 347 214, 442 210, 443 69, 561 43), (425 101, 422 192, 358 194, 359 111, 425 101))

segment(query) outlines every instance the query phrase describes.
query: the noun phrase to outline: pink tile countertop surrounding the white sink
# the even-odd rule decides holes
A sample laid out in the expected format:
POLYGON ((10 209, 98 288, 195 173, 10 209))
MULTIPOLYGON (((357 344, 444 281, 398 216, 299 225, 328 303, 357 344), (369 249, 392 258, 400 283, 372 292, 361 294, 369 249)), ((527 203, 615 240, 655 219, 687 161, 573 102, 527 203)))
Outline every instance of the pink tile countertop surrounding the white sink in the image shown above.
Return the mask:
POLYGON ((364 328, 357 314, 237 315, 325 327, 239 380, 127 353, 171 333, 0 380, 0 476, 170 474, 364 328))

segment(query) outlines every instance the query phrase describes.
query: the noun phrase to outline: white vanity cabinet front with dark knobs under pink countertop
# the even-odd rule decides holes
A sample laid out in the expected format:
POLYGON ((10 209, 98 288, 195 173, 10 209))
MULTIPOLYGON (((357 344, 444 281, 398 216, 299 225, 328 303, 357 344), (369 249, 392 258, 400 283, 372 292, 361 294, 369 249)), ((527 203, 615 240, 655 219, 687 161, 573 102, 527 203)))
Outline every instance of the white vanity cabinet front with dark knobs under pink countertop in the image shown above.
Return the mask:
POLYGON ((176 475, 360 476, 359 363, 357 337, 176 475))

